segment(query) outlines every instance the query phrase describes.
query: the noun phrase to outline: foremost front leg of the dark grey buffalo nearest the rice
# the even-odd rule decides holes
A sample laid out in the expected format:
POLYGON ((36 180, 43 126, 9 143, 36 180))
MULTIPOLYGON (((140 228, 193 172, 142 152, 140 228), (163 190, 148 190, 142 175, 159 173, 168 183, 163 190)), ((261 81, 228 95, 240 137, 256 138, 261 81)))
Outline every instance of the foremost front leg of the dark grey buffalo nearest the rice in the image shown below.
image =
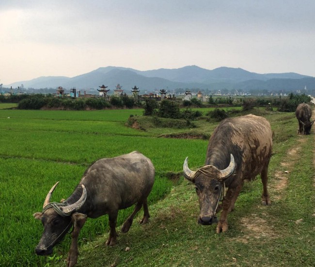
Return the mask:
POLYGON ((80 213, 74 213, 72 215, 72 220, 74 222, 74 230, 71 234, 72 240, 71 240, 71 246, 67 258, 67 267, 74 266, 78 261, 78 237, 79 233, 87 219, 87 216, 80 213))

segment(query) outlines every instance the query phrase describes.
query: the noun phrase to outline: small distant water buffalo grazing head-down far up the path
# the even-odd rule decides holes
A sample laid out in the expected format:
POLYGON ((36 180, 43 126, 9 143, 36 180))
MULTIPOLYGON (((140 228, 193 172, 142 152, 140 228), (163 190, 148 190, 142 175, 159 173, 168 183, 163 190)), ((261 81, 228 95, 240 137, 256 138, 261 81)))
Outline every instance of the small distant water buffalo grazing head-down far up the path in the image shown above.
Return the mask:
POLYGON ((310 105, 301 103, 295 111, 295 116, 299 121, 298 134, 310 134, 311 128, 315 120, 311 121, 312 109, 310 105))

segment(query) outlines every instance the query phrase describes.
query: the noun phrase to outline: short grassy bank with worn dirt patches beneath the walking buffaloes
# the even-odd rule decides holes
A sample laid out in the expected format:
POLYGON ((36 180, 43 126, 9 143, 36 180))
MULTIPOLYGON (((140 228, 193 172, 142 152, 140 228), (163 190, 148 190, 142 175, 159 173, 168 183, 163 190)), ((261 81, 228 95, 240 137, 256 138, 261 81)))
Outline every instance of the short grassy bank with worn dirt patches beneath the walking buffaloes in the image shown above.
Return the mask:
MULTIPOLYGON (((287 119, 292 120, 293 116, 287 119)), ((286 128, 285 142, 275 142, 269 174, 271 188, 275 186, 274 172, 280 162, 288 160, 286 152, 296 147, 298 138, 305 139, 291 159, 287 187, 278 192, 282 198, 273 205, 260 205, 259 179, 245 184, 236 210, 229 215, 229 231, 218 235, 215 226, 197 225, 197 197, 193 186, 181 180, 166 199, 151 206, 148 225, 135 225, 128 234, 120 236, 119 244, 113 248, 104 246, 107 234, 85 244, 78 267, 314 266, 314 135, 290 134, 296 130, 295 124, 286 128), (127 252, 126 247, 130 248, 127 252)), ((279 130, 279 125, 272 125, 279 130)), ((276 194, 275 190, 271 192, 276 194)))

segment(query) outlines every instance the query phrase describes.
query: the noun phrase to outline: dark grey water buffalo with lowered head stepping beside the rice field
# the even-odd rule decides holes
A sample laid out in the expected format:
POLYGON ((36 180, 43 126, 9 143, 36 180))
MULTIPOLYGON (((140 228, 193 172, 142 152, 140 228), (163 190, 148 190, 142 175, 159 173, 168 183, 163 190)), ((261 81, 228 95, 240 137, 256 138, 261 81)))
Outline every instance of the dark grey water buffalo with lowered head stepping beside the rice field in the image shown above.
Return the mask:
POLYGON ((67 258, 71 267, 78 259, 78 236, 87 217, 97 218, 109 215, 110 236, 106 245, 116 243, 116 218, 118 210, 137 203, 133 213, 126 219, 122 232, 126 233, 133 217, 143 205, 144 215, 141 223, 148 221, 150 215, 147 197, 154 184, 155 169, 151 161, 138 151, 96 161, 83 174, 72 195, 63 201, 49 202, 58 182, 50 189, 44 202, 43 211, 33 216, 44 225, 44 233, 35 252, 49 255, 53 247, 74 226, 72 243, 67 258))

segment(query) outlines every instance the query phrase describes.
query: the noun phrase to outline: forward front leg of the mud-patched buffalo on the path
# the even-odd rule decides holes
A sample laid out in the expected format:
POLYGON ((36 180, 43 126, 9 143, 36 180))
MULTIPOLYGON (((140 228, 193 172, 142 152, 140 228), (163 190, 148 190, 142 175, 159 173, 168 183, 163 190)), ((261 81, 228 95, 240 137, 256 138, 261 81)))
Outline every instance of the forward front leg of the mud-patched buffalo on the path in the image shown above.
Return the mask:
POLYGON ((217 230, 216 230, 217 234, 220 234, 221 232, 226 232, 229 229, 229 226, 227 224, 227 215, 231 210, 234 209, 235 201, 242 187, 243 187, 243 182, 237 185, 236 188, 228 189, 227 194, 222 204, 222 213, 221 213, 220 221, 218 222, 217 230))

